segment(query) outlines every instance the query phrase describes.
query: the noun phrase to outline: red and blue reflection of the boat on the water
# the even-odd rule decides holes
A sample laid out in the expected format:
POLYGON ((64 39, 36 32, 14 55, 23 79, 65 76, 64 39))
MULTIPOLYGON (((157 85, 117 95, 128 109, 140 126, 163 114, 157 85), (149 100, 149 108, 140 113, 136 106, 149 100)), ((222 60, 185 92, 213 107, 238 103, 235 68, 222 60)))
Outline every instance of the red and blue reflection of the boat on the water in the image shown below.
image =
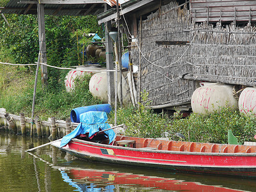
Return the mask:
MULTIPOLYGON (((155 172, 151 174, 148 170, 145 172, 131 168, 114 168, 114 166, 109 166, 108 164, 84 163, 84 161, 78 159, 71 161, 70 164, 63 164, 63 167, 65 168, 59 168, 63 180, 76 188, 77 191, 124 191, 127 188, 133 188, 136 191, 142 189, 143 191, 160 189, 162 191, 241 191, 223 187, 220 184, 216 184, 216 186, 202 184, 197 182, 193 175, 188 174, 171 175, 155 172, 155 170, 151 170, 155 172), (74 167, 74 164, 80 165, 74 167), (86 164, 88 168, 81 167, 81 164, 86 164), (166 175, 175 178, 168 178, 166 175), (176 176, 180 177, 180 179, 176 179, 176 176), (189 180, 193 180, 193 182, 189 180)), ((200 178, 203 180, 202 178, 204 177, 200 178)))

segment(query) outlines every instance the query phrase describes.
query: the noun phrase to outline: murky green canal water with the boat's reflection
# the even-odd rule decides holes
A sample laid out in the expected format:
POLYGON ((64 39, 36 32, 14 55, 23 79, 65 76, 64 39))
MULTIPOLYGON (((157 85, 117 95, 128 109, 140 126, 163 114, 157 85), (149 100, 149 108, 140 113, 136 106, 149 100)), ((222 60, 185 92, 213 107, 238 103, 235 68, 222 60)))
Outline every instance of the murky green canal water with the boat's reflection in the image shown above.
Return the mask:
POLYGON ((256 191, 256 180, 90 163, 0 131, 0 191, 256 191))

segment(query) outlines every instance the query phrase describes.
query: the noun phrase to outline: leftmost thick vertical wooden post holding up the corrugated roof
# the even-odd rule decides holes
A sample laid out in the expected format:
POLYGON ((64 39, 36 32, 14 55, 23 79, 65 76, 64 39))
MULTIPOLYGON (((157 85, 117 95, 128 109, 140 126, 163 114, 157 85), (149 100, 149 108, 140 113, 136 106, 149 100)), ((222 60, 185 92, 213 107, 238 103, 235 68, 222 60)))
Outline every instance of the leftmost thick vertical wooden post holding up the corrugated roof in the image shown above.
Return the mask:
MULTIPOLYGON (((37 17, 38 17, 38 38, 39 44, 42 42, 42 49, 40 52, 42 53, 42 60, 40 63, 47 63, 46 59, 46 44, 45 44, 45 19, 44 19, 44 4, 37 3, 37 17), (43 38, 42 38, 43 37, 43 38)), ((47 66, 41 64, 41 81, 42 86, 47 86, 48 72, 47 66)))

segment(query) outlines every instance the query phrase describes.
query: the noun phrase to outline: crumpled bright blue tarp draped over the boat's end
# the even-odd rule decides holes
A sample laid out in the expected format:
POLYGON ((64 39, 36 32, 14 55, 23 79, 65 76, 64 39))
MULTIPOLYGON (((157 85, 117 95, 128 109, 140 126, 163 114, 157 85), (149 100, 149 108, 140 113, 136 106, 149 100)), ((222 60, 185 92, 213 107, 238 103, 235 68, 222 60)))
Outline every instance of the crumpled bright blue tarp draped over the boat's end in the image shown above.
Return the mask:
MULTIPOLYGON (((88 137, 90 138, 100 130, 111 128, 107 123, 108 116, 104 111, 88 111, 86 113, 82 113, 79 118, 81 123, 76 127, 76 129, 74 129, 74 131, 62 138, 60 147, 67 145, 72 138, 76 138, 79 134, 86 134, 86 132, 88 132, 88 137)), ((108 135, 109 143, 115 140, 116 134, 112 129, 104 132, 108 135)))

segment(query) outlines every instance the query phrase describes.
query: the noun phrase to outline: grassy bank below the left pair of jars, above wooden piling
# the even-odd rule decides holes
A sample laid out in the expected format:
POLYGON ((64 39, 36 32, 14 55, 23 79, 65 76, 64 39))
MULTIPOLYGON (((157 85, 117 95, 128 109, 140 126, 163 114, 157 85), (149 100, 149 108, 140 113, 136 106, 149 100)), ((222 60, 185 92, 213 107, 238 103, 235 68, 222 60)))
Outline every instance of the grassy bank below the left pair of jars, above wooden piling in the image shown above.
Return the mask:
MULTIPOLYGON (((47 120, 51 116, 65 120, 74 108, 100 104, 100 100, 95 99, 89 91, 90 77, 90 75, 86 75, 77 78, 76 90, 72 93, 68 93, 64 85, 59 88, 58 92, 52 92, 49 88, 42 88, 41 82, 38 80, 35 115, 40 116, 42 120, 47 120)), ((8 94, 10 89, 6 88, 0 97, 0 106, 5 108, 8 113, 19 115, 22 112, 25 116, 31 116, 34 81, 30 80, 28 86, 22 88, 21 92, 12 92, 11 94, 8 94)))

